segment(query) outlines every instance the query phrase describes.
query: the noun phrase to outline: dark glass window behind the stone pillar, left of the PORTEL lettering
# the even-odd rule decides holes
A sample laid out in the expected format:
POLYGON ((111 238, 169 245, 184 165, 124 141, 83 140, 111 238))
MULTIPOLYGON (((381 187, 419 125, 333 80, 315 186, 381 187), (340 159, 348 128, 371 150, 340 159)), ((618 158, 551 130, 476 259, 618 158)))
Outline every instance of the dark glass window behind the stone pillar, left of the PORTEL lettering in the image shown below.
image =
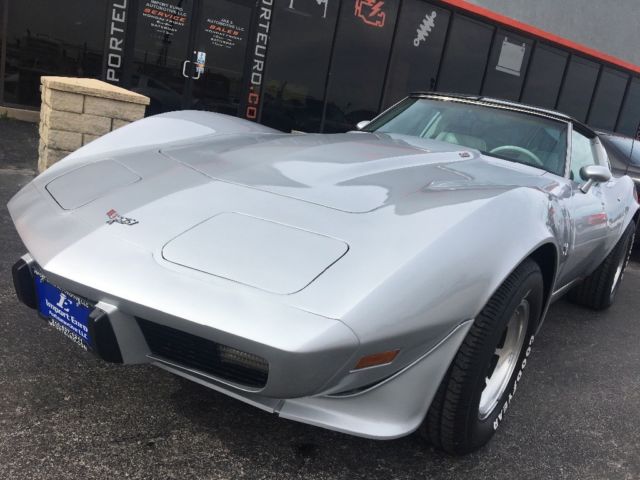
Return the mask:
POLYGON ((4 101, 40 105, 40 77, 102 75, 107 0, 9 2, 4 101))

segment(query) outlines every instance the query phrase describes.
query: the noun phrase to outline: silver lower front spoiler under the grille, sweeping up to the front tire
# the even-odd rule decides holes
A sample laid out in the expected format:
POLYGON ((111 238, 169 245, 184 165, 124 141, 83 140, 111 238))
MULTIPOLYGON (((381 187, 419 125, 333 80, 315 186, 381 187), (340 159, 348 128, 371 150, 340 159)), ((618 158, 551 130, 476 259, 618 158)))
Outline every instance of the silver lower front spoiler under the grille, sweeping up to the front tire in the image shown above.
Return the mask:
POLYGON ((154 359, 153 364, 282 418, 375 440, 392 440, 414 432, 422 423, 473 320, 456 327, 438 345, 411 365, 351 395, 316 395, 295 399, 269 398, 241 392, 201 372, 154 359))

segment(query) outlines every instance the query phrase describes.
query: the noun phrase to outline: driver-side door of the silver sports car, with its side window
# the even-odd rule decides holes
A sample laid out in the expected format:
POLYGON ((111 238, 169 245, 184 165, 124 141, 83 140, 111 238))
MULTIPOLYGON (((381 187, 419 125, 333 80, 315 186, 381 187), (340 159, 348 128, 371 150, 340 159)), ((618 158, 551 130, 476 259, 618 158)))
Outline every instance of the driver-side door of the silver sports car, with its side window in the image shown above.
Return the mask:
POLYGON ((611 210, 608 205, 614 196, 613 189, 605 190, 602 184, 594 184, 586 193, 580 190, 585 183, 580 176, 580 169, 587 165, 602 164, 603 161, 597 151, 596 140, 572 130, 570 149, 571 193, 565 202, 570 215, 571 234, 569 244, 562 246, 567 260, 558 278, 559 286, 588 274, 603 260, 610 236, 611 210))

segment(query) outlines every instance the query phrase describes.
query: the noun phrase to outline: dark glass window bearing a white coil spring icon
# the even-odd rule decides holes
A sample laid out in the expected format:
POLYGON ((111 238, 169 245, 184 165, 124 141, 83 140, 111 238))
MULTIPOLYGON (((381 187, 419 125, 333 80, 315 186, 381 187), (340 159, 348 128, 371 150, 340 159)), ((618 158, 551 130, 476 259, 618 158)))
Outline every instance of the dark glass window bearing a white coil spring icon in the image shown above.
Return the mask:
POLYGON ((422 0, 404 0, 393 41, 383 107, 411 92, 434 90, 449 27, 447 10, 422 0))

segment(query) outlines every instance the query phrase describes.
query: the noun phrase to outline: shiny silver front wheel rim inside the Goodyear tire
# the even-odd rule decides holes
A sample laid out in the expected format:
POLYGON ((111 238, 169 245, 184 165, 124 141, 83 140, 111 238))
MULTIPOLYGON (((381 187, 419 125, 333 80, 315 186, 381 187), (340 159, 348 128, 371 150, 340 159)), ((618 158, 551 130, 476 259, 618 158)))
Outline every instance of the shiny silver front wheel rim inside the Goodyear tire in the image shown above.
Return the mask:
POLYGON ((491 358, 478 408, 480 420, 491 415, 509 385, 527 335, 529 316, 529 301, 525 297, 511 315, 507 328, 505 328, 500 343, 491 358))

